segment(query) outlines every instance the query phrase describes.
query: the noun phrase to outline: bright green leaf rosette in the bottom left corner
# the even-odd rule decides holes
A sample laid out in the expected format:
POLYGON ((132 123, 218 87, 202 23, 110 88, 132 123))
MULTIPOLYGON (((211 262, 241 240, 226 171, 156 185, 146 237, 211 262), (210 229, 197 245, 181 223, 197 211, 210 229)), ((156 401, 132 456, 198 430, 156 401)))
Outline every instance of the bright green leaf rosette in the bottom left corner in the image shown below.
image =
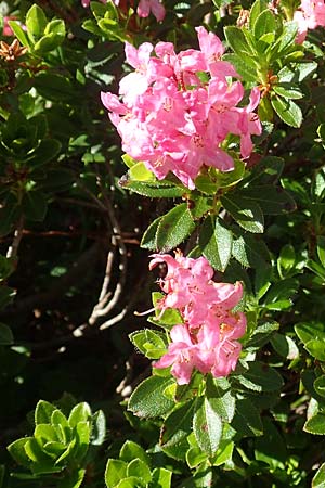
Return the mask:
POLYGON ((103 444, 105 434, 105 416, 101 410, 92 414, 88 403, 78 403, 67 418, 54 404, 40 400, 35 410, 32 436, 8 446, 10 454, 25 470, 13 476, 54 480, 60 488, 78 488, 91 449, 103 444))

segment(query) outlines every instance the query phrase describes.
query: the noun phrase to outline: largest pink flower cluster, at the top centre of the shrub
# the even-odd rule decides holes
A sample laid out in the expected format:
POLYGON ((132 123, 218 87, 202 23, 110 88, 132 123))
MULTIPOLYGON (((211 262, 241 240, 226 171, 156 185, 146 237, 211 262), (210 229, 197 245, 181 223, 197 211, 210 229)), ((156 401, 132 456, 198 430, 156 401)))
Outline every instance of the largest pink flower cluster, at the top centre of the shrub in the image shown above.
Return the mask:
POLYGON ((200 168, 234 169, 232 157, 221 149, 229 133, 240 138, 244 158, 252 151, 251 134, 261 133, 253 112, 260 100, 258 88, 247 106, 234 66, 222 61, 220 39, 196 27, 199 50, 174 52, 171 42, 135 49, 126 43, 126 57, 134 72, 119 84, 119 98, 102 92, 102 102, 122 140, 122 150, 161 180, 169 171, 184 185, 195 188, 200 168), (155 51, 155 56, 153 52, 155 51))

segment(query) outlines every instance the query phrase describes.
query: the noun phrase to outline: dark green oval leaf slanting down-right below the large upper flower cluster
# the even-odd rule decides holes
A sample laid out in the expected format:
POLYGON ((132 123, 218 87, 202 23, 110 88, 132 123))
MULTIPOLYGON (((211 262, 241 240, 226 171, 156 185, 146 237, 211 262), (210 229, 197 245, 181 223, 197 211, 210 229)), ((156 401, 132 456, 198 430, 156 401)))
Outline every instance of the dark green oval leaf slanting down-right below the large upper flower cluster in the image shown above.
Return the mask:
POLYGON ((264 217, 261 207, 250 198, 227 194, 221 197, 223 207, 233 219, 248 232, 262 233, 264 217))

